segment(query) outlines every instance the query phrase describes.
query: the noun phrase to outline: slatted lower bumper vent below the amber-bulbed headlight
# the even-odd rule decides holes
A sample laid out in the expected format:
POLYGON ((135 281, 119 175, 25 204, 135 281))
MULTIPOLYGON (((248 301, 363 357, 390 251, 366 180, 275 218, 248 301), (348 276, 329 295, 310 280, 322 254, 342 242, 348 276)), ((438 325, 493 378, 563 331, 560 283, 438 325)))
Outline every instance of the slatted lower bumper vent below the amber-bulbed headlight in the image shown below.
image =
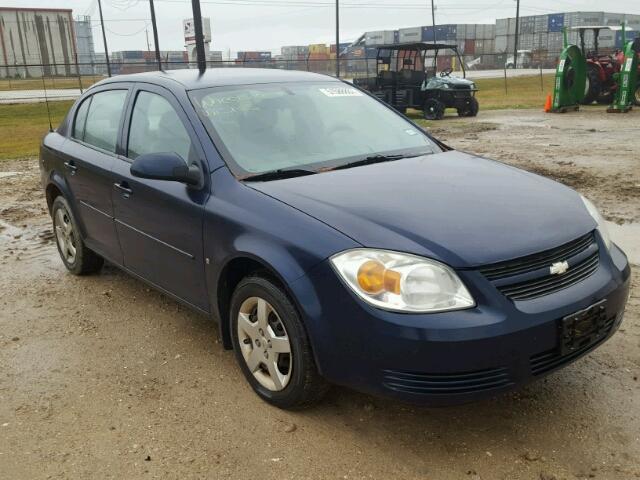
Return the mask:
POLYGON ((506 368, 446 374, 384 370, 383 383, 391 390, 418 395, 481 392, 513 384, 506 368))

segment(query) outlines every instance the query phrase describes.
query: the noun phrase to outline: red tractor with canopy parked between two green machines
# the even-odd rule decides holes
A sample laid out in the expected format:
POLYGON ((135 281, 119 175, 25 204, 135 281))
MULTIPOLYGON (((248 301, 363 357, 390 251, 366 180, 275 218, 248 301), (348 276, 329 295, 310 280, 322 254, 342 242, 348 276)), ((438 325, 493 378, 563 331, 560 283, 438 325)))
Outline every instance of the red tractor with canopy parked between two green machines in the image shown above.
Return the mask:
MULTIPOLYGON (((622 27, 615 26, 589 26, 573 27, 580 36, 580 49, 587 60, 587 82, 585 86, 585 96, 582 101, 585 105, 593 102, 600 104, 610 104, 618 85, 614 79, 614 74, 620 72, 620 66, 624 61, 624 54, 620 49, 609 49, 611 53, 600 52, 598 48, 598 38, 600 30, 611 30, 615 32, 622 30, 622 27), (585 48, 585 32, 593 31, 593 49, 585 48)), ((638 41, 638 39, 636 39, 638 41)), ((640 66, 638 67, 640 73, 640 66)), ((640 82, 635 89, 634 103, 640 105, 640 82)))

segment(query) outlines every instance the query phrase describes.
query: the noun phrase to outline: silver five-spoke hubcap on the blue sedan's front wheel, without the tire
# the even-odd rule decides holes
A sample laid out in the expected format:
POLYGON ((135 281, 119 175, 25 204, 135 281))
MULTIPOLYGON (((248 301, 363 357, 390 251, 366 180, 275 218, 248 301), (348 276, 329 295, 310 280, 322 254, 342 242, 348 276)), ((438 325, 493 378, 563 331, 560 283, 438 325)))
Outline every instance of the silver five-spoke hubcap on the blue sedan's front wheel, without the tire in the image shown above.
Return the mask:
POLYGON ((291 343, 280 316, 260 297, 249 297, 238 312, 238 344, 255 379, 264 388, 284 390, 291 380, 291 343))

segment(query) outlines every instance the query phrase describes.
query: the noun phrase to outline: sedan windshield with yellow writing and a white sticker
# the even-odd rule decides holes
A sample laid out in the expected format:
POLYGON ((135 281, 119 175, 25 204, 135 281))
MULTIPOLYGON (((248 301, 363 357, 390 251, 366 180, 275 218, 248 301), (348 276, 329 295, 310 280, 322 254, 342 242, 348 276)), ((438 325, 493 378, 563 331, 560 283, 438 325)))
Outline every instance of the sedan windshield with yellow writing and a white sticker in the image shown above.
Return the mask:
POLYGON ((440 151, 410 122, 346 84, 212 87, 189 96, 239 176, 440 151))

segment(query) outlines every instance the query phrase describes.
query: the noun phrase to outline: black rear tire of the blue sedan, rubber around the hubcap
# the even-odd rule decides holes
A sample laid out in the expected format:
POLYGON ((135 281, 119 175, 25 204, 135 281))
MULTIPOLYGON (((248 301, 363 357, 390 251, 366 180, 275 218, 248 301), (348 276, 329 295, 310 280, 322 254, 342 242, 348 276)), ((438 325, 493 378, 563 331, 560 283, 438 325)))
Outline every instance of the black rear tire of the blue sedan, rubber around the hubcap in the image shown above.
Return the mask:
POLYGON ((94 251, 87 248, 82 241, 78 222, 73 216, 73 211, 64 197, 58 196, 53 201, 53 204, 51 205, 51 219, 53 221, 53 233, 56 239, 58 253, 60 254, 62 263, 67 267, 67 270, 74 275, 89 275, 91 273, 99 272, 102 265, 104 265, 104 259, 94 251), (73 258, 70 257, 68 251, 63 252, 64 247, 59 238, 62 227, 56 223, 58 222, 57 219, 60 218, 60 215, 65 219, 65 222, 68 221, 67 224, 71 227, 71 231, 67 235, 63 234, 63 236, 65 236, 66 241, 72 242, 72 245, 75 248, 75 255, 73 255, 73 258))

